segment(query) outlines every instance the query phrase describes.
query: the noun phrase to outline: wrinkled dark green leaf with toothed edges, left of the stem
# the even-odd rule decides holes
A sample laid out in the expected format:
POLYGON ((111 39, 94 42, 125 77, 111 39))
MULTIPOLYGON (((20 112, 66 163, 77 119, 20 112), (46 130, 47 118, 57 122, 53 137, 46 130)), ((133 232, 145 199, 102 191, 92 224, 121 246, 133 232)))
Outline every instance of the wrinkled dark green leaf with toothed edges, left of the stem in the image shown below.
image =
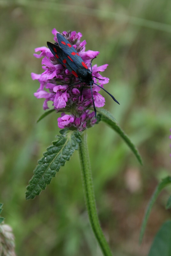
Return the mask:
POLYGON ((38 161, 34 175, 27 186, 26 199, 33 199, 39 195, 50 184, 60 167, 64 166, 66 160, 69 161, 70 156, 79 148, 80 132, 64 129, 61 133, 62 135, 57 135, 57 140, 53 141, 53 145, 47 148, 42 159, 38 161))

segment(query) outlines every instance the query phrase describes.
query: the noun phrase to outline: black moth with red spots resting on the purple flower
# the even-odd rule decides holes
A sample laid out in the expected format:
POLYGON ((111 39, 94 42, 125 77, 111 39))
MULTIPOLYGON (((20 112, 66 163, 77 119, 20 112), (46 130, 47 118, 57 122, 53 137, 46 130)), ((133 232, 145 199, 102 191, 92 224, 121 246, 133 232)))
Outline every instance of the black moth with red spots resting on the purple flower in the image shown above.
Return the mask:
MULTIPOLYGON (((96 108, 94 104, 94 99, 93 99, 93 92, 92 92, 92 86, 94 83, 93 77, 92 76, 92 60, 90 63, 91 66, 91 71, 87 67, 87 65, 84 63, 82 58, 79 56, 79 53, 74 49, 74 47, 66 40, 64 36, 61 34, 57 33, 57 39, 58 43, 52 44, 50 42, 47 42, 47 45, 49 49, 51 50, 52 54, 57 58, 57 60, 65 67, 67 68, 75 77, 77 77, 80 82, 85 83, 90 86, 91 89, 91 96, 93 100, 93 107, 94 107, 94 112, 95 112, 95 117, 96 117, 96 108)), ((99 79, 98 77, 95 77, 99 79)), ((103 80, 103 79, 99 79, 103 80)), ((80 82, 76 83, 79 84, 80 82)), ((72 84, 75 85, 75 84, 72 84)), ((72 86, 70 85, 70 86, 72 86)), ((119 104, 119 102, 113 97, 112 94, 110 94, 108 91, 106 91, 103 87, 100 85, 96 84, 98 87, 103 89, 105 92, 107 92, 112 99, 119 104)), ((69 87, 70 87, 69 86, 69 87)), ((69 88, 68 87, 68 88, 69 88)), ((67 88, 67 89, 68 89, 67 88)), ((66 90, 67 90, 66 89, 66 90)), ((83 89, 83 86, 82 86, 83 89)), ((82 91, 81 91, 81 97, 82 97, 82 91)))

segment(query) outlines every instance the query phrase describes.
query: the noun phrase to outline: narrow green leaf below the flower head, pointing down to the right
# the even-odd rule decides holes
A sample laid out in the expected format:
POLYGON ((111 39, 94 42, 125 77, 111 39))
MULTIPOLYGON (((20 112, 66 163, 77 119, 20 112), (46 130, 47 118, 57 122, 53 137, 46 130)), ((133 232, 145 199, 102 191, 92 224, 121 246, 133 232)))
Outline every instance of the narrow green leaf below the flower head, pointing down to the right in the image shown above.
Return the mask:
MULTIPOLYGON (((138 153, 138 150, 136 149, 135 145, 131 142, 131 140, 128 138, 128 136, 119 127, 116 119, 112 116, 112 114, 103 108, 97 108, 97 112, 100 113, 101 115, 101 121, 108 124, 127 143, 128 147, 132 150, 132 152, 138 159, 139 163, 142 165, 143 162, 140 154, 138 153)), ((99 116, 98 116, 98 122, 99 122, 99 116)))

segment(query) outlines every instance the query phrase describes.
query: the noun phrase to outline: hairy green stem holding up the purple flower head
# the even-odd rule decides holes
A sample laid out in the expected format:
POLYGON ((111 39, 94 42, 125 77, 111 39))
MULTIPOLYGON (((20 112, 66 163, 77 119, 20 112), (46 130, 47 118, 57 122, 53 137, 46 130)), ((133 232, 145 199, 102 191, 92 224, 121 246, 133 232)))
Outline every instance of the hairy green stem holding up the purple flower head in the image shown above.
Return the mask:
POLYGON ((101 250, 105 256, 112 256, 112 252, 105 239, 103 231, 100 227, 100 223, 97 216, 96 202, 93 189, 93 181, 91 175, 91 167, 89 160, 89 152, 87 147, 87 133, 86 131, 82 134, 82 143, 79 148, 79 155, 82 169, 82 184, 84 188, 84 196, 89 214, 89 220, 93 232, 97 238, 97 241, 101 247, 101 250))

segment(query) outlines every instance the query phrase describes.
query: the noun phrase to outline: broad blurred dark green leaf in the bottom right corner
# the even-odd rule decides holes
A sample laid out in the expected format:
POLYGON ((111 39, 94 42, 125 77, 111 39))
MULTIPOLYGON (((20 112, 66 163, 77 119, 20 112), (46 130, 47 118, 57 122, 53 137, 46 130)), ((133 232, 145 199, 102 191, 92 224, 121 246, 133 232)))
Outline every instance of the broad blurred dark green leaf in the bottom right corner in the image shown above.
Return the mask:
POLYGON ((171 255, 171 220, 163 223, 154 238, 148 256, 171 255))

